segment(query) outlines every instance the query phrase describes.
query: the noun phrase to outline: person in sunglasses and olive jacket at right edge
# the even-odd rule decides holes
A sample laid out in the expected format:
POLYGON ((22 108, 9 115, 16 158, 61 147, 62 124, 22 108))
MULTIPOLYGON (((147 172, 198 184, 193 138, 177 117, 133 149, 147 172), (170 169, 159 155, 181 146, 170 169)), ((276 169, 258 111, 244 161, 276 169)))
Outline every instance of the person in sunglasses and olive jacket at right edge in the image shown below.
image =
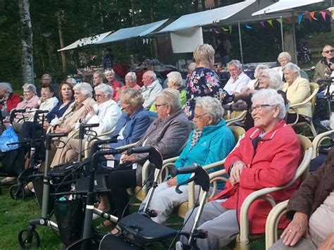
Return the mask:
POLYGON ((326 79, 330 77, 334 70, 334 48, 330 45, 323 46, 323 52, 321 53, 321 58, 318 63, 316 63, 316 68, 314 70, 313 81, 318 82, 318 80, 326 79))

